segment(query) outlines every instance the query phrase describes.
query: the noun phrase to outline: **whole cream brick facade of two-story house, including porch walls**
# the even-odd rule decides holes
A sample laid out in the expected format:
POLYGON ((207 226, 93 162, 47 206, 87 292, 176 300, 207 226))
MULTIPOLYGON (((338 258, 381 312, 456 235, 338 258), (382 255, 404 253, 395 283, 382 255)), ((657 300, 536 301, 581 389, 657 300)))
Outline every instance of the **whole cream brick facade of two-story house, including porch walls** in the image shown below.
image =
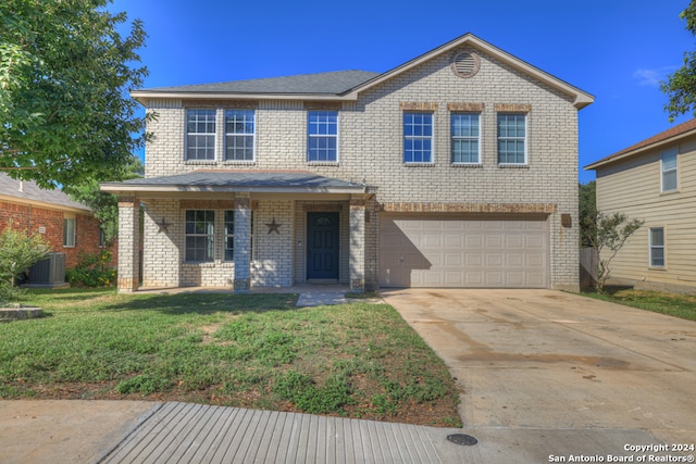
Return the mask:
MULTIPOLYGON (((249 168, 306 170, 344 180, 364 179, 369 186, 376 187, 376 196, 368 201, 364 210, 350 210, 349 203, 341 200, 345 205, 340 210, 341 230, 346 233, 341 233, 340 280, 349 284, 351 276, 362 278, 365 288, 376 287, 378 214, 385 209, 408 204, 414 214, 445 209, 461 217, 486 212, 544 213, 550 230, 550 287, 577 289, 577 110, 570 97, 533 80, 487 53, 478 52, 481 68, 475 76, 461 78, 450 68, 452 52, 457 51, 434 55, 420 66, 368 89, 357 102, 332 103, 340 108, 338 161, 335 163, 307 162, 307 105, 302 101, 252 102, 257 130, 253 162, 222 161, 224 109, 234 108, 235 103, 204 103, 217 109, 216 161, 187 162, 186 108, 202 108, 203 103, 151 99, 148 111, 157 111, 159 117, 148 124, 154 139, 147 147, 146 177, 199 168, 249 168), (407 165, 402 162, 405 109, 433 112, 432 163, 407 165), (462 110, 477 111, 481 115, 481 164, 476 166, 450 163, 450 114, 462 110), (498 112, 526 114, 527 163, 523 166, 497 163, 498 112), (570 215, 572 226, 561 226, 561 214, 570 215), (359 239, 348 234, 351 223, 364 224, 359 239), (364 256, 364 267, 361 264, 360 268, 348 268, 352 243, 358 243, 358 248, 352 250, 353 258, 364 256)), ((148 206, 152 209, 150 216, 156 218, 161 215, 156 213, 160 208, 157 204, 148 206)), ((257 225, 275 215, 276 221, 287 224, 287 227, 282 227, 281 236, 273 238, 259 237, 263 233, 256 230, 261 255, 254 255, 251 266, 254 285, 303 281, 306 256, 297 244, 298 240, 304 241, 304 204, 303 201, 259 203, 257 225), (293 256, 289 251, 293 249, 294 262, 286 262, 274 254, 293 256), (284 274, 278 275, 278 271, 284 274)), ((228 285, 227 279, 234 269, 226 263, 211 265, 214 271, 207 271, 208 265, 192 271, 187 266, 179 268, 183 251, 176 254, 177 263, 174 263, 172 256, 176 243, 178 247, 183 243, 181 216, 170 228, 172 237, 162 248, 164 251, 157 251, 164 238, 153 233, 152 223, 148 226, 147 221, 152 221, 151 217, 146 220, 146 276, 152 276, 152 280, 148 277, 148 283, 156 283, 154 274, 161 273, 162 266, 173 266, 177 271, 172 272, 179 273, 181 285, 228 285), (147 251, 148 247, 150 251, 147 251), (151 264, 147 264, 148 261, 151 264)), ((174 277, 170 279, 169 274, 161 278, 177 283, 174 277)))

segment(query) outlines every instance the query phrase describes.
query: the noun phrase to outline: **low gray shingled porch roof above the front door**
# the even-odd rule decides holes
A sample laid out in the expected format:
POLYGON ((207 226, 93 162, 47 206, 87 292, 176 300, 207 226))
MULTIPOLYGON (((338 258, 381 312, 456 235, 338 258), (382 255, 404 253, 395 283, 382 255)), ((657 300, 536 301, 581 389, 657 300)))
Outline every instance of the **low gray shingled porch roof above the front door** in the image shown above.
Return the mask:
POLYGON ((321 190, 349 189, 362 191, 364 186, 332 177, 324 177, 304 171, 195 171, 173 176, 149 177, 124 180, 122 183, 104 183, 108 191, 120 188, 140 187, 175 188, 177 190, 212 189, 217 191, 235 190, 321 190))

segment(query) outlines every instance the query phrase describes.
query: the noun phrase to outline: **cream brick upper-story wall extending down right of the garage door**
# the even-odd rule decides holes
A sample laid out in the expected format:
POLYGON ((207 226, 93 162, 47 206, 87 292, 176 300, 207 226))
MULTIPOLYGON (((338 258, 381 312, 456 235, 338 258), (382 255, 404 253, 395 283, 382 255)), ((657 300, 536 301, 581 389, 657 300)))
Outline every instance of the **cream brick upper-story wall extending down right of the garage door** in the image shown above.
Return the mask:
MULTIPOLYGON (((550 203, 556 206, 549 213, 550 286, 576 289, 577 111, 568 96, 486 53, 480 55, 481 70, 474 77, 457 77, 449 67, 450 53, 445 53, 370 89, 355 103, 341 103, 338 163, 306 161, 307 111, 301 101, 257 102, 256 162, 232 164, 221 161, 225 105, 219 104, 217 161, 187 163, 185 102, 152 101, 149 109, 160 117, 148 125, 156 139, 148 145, 146 176, 201 167, 308 170, 345 180, 364 178, 368 185, 378 187, 380 203, 550 203), (420 104, 433 110, 432 164, 402 163, 403 103, 406 108, 420 104), (450 164, 450 108, 482 110, 482 165, 450 164), (526 166, 498 166, 496 109, 527 112, 526 166), (571 215, 572 227, 561 227, 560 214, 571 215)), ((373 243, 365 247, 376 248, 373 243)))

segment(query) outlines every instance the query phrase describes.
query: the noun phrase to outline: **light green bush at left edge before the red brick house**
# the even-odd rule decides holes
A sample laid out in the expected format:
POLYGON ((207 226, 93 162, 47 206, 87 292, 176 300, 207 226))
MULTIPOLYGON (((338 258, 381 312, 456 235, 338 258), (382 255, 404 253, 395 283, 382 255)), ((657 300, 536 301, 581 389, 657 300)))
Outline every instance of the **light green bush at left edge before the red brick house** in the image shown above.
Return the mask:
POLYGON ((0 301, 16 296, 16 277, 50 251, 37 234, 12 228, 12 223, 0 234, 0 301))

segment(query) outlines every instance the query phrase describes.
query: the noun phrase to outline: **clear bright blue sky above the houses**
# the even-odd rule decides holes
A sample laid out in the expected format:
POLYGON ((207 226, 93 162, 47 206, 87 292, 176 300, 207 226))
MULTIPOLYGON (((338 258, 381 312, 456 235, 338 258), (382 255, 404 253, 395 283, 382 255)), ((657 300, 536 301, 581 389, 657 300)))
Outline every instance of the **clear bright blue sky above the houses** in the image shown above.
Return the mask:
POLYGON ((696 40, 688 0, 114 0, 140 18, 145 87, 327 71, 385 72, 472 33, 596 97, 580 112, 582 166, 674 124, 659 81, 696 40))

